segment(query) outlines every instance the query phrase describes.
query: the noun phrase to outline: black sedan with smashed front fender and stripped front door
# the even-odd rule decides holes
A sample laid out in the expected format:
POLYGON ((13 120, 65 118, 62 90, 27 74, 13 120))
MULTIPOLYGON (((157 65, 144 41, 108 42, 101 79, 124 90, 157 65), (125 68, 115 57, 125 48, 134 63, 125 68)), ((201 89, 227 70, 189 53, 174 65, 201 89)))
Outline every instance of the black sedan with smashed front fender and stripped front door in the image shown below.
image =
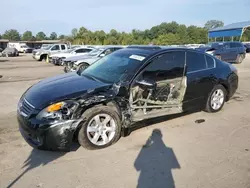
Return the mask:
POLYGON ((236 68, 181 48, 127 48, 84 71, 48 78, 18 104, 20 132, 33 147, 68 151, 115 143, 132 123, 194 109, 218 112, 238 87, 236 68))

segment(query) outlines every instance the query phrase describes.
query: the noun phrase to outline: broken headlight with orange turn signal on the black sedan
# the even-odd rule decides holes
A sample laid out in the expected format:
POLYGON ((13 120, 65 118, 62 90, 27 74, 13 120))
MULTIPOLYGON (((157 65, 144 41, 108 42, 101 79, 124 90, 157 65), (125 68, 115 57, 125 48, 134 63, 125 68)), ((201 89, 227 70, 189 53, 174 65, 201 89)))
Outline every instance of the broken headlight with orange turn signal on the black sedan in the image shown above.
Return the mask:
POLYGON ((63 101, 52 104, 43 109, 38 115, 37 119, 40 120, 68 120, 76 111, 79 104, 75 101, 63 101))

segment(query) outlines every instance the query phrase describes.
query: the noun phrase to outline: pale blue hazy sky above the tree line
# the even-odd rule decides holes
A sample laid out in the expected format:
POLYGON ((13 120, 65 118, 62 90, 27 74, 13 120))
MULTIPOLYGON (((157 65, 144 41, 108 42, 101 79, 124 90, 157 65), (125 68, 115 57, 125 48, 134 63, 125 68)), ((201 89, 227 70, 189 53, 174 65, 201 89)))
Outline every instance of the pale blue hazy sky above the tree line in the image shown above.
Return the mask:
POLYGON ((8 29, 70 34, 73 28, 129 32, 162 22, 204 26, 250 21, 250 0, 0 0, 0 34, 8 29), (6 16, 5 16, 6 15, 6 16))

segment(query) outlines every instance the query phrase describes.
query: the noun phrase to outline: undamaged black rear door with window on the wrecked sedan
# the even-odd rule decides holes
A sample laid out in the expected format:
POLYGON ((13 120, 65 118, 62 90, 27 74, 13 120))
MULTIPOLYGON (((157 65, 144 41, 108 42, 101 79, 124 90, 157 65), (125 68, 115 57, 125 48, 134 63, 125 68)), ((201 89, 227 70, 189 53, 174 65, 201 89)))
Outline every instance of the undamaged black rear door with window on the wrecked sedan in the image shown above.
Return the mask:
POLYGON ((215 61, 203 53, 186 53, 187 91, 183 108, 189 110, 204 104, 215 84, 215 61))

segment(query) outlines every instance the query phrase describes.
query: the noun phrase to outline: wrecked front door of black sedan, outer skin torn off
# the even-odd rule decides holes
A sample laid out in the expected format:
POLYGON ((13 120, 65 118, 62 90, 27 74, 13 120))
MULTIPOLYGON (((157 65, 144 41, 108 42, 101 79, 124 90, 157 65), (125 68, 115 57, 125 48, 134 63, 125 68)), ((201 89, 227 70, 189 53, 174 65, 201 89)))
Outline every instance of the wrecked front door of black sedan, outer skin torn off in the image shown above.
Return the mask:
POLYGON ((186 92, 185 52, 172 51, 153 58, 130 87, 132 119, 182 112, 186 92))

